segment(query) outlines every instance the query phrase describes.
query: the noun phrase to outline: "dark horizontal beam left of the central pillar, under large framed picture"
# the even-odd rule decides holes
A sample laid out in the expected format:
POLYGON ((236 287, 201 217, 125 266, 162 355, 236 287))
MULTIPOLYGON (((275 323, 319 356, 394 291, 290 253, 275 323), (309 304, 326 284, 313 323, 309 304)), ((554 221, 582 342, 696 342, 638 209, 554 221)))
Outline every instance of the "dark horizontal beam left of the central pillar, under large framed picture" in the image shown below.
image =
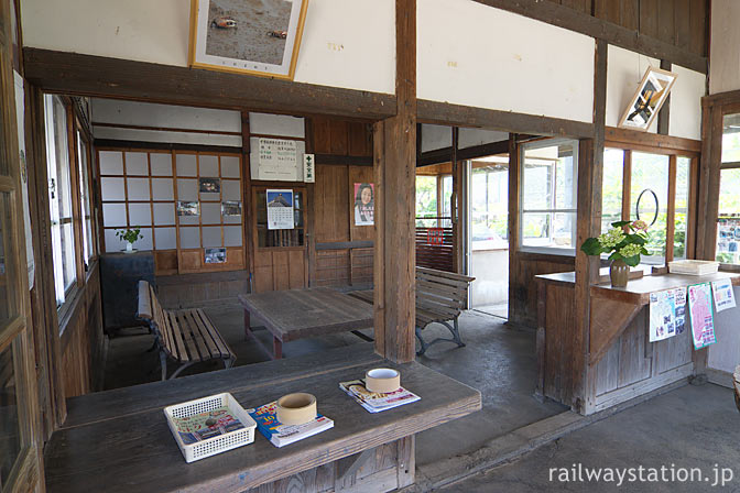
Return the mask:
POLYGON ((393 95, 242 74, 28 47, 23 62, 25 78, 47 92, 363 120, 396 110, 393 95))

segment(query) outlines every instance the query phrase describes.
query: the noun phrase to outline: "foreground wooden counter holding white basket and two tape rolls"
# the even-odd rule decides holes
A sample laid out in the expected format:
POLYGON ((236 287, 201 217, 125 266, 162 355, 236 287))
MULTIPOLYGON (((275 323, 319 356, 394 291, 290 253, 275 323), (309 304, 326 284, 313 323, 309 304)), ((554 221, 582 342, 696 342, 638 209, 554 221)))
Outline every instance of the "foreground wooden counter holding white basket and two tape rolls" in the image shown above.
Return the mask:
POLYGON ((418 363, 393 364, 360 343, 306 357, 68 399, 45 450, 46 489, 64 492, 389 491, 414 481, 414 434, 474 413, 480 393, 418 363), (370 414, 339 390, 376 366, 401 371, 421 401, 370 414), (290 392, 316 395, 334 428, 283 448, 254 442, 186 463, 162 408, 219 393, 244 407, 290 392))

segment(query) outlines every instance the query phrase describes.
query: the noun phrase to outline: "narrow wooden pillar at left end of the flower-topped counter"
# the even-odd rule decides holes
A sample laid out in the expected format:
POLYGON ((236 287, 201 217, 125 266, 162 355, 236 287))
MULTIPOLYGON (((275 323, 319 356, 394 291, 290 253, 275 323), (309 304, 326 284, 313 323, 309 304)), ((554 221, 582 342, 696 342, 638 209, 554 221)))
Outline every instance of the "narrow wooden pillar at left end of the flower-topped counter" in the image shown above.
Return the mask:
MULTIPOLYGON (((596 372, 589 362, 590 285, 599 277, 598 256, 580 251, 580 245, 601 229, 601 182, 603 178, 603 136, 607 100, 607 43, 596 42, 594 61, 594 139, 580 141, 578 147, 578 212, 576 239, 576 324, 573 338, 573 406, 588 413, 596 395, 596 372)), ((567 375, 566 375, 567 379, 567 375)), ((569 385, 564 385, 568 388, 569 385)))

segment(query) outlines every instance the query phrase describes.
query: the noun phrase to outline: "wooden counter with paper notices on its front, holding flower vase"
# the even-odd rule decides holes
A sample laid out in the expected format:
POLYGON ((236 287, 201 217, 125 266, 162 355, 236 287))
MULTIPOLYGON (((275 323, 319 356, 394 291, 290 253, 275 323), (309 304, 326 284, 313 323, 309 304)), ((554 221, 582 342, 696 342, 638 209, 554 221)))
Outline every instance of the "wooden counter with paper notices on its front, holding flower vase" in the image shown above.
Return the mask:
POLYGON ((575 273, 536 278, 537 393, 583 414, 602 410, 694 373, 688 324, 679 335, 650 342, 646 307, 651 293, 725 278, 740 285, 740 274, 730 272, 645 275, 630 280, 623 288, 596 284, 590 287, 588 333, 578 337, 574 333, 575 273), (575 347, 577 340, 584 341, 583 348, 575 347), (585 353, 585 368, 574 368, 576 351, 585 353), (584 388, 574 388, 576 372, 585 372, 584 388))

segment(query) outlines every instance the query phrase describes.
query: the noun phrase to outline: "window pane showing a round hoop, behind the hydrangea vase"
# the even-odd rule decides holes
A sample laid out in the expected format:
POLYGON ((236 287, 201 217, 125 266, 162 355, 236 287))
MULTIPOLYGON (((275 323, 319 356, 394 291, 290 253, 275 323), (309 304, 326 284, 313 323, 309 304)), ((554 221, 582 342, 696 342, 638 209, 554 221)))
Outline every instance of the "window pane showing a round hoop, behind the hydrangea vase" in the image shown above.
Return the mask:
POLYGON ((666 155, 632 153, 630 219, 642 219, 650 226, 649 254, 641 260, 645 264, 665 262, 670 161, 666 155))

